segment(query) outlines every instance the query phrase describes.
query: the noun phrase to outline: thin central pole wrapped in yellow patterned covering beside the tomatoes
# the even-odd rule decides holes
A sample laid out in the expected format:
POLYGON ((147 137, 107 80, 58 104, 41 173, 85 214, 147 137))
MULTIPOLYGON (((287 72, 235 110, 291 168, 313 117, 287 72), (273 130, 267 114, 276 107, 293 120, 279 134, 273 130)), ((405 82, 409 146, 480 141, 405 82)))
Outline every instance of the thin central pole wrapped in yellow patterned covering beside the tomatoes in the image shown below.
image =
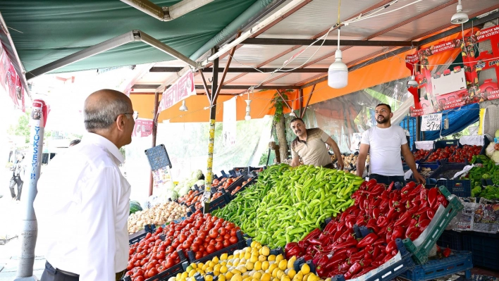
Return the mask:
MULTIPOLYGON (((216 50, 214 50, 216 51, 216 50)), ((218 87, 218 58, 213 62, 213 82, 211 82, 210 108, 209 108, 209 137, 208 137, 208 165, 206 185, 204 185, 204 208, 203 213, 209 213, 209 194, 211 194, 211 182, 213 182, 213 151, 215 144, 215 120, 216 120, 216 91, 218 87)), ((208 94, 208 93, 207 93, 208 94)))

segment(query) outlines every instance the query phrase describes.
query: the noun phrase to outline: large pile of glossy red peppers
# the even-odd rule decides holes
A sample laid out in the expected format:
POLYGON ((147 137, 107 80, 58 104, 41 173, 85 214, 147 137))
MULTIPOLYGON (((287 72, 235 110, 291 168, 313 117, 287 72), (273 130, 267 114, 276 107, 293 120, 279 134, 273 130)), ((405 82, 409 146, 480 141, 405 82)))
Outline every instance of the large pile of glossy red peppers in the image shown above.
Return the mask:
POLYGON ((387 188, 376 180, 364 182, 352 194, 355 205, 331 220, 323 231, 316 229, 302 241, 288 243, 286 258, 304 257, 314 261, 320 277, 343 274, 345 280, 386 263, 398 254, 395 239, 417 239, 438 206, 448 205, 437 188, 426 189, 414 182, 400 190, 393 187, 393 183, 387 188), (355 235, 355 225, 365 226, 369 234, 362 237, 357 231, 355 235))

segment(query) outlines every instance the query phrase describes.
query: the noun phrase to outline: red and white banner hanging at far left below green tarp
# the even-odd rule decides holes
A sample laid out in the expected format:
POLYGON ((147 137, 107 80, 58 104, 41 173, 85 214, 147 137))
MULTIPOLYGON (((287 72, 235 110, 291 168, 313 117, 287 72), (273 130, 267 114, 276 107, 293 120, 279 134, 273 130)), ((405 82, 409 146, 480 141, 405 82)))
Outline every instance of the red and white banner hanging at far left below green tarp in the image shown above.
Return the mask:
POLYGON ((2 44, 0 44, 0 85, 11 96, 14 106, 25 112, 23 85, 2 44))

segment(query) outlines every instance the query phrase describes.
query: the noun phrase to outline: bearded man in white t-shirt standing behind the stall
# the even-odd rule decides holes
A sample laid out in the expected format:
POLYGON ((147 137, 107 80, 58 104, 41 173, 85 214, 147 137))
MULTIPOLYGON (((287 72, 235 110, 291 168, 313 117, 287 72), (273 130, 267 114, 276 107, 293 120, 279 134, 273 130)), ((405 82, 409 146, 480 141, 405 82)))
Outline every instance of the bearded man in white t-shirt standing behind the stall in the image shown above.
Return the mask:
POLYGON ((414 179, 424 183, 417 169, 414 156, 407 145, 404 129, 398 125, 392 125, 392 108, 388 104, 376 106, 375 117, 378 123, 362 133, 360 141, 359 156, 357 161, 357 175, 362 177, 364 173, 366 157, 369 153, 369 178, 378 182, 390 184, 400 182, 404 185, 404 169, 400 160, 400 153, 405 158, 405 163, 412 170, 414 179))

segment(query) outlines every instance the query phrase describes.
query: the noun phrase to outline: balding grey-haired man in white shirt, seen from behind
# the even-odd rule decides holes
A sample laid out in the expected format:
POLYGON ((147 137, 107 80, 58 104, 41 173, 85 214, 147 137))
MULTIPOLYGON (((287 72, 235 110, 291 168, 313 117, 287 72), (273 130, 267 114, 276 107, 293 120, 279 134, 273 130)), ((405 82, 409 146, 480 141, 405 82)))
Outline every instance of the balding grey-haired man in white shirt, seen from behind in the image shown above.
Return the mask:
POLYGON ((87 134, 37 185, 39 236, 48 242, 42 281, 118 280, 128 264, 130 185, 118 166, 119 149, 132 142, 132 101, 103 89, 88 96, 84 111, 87 134))

